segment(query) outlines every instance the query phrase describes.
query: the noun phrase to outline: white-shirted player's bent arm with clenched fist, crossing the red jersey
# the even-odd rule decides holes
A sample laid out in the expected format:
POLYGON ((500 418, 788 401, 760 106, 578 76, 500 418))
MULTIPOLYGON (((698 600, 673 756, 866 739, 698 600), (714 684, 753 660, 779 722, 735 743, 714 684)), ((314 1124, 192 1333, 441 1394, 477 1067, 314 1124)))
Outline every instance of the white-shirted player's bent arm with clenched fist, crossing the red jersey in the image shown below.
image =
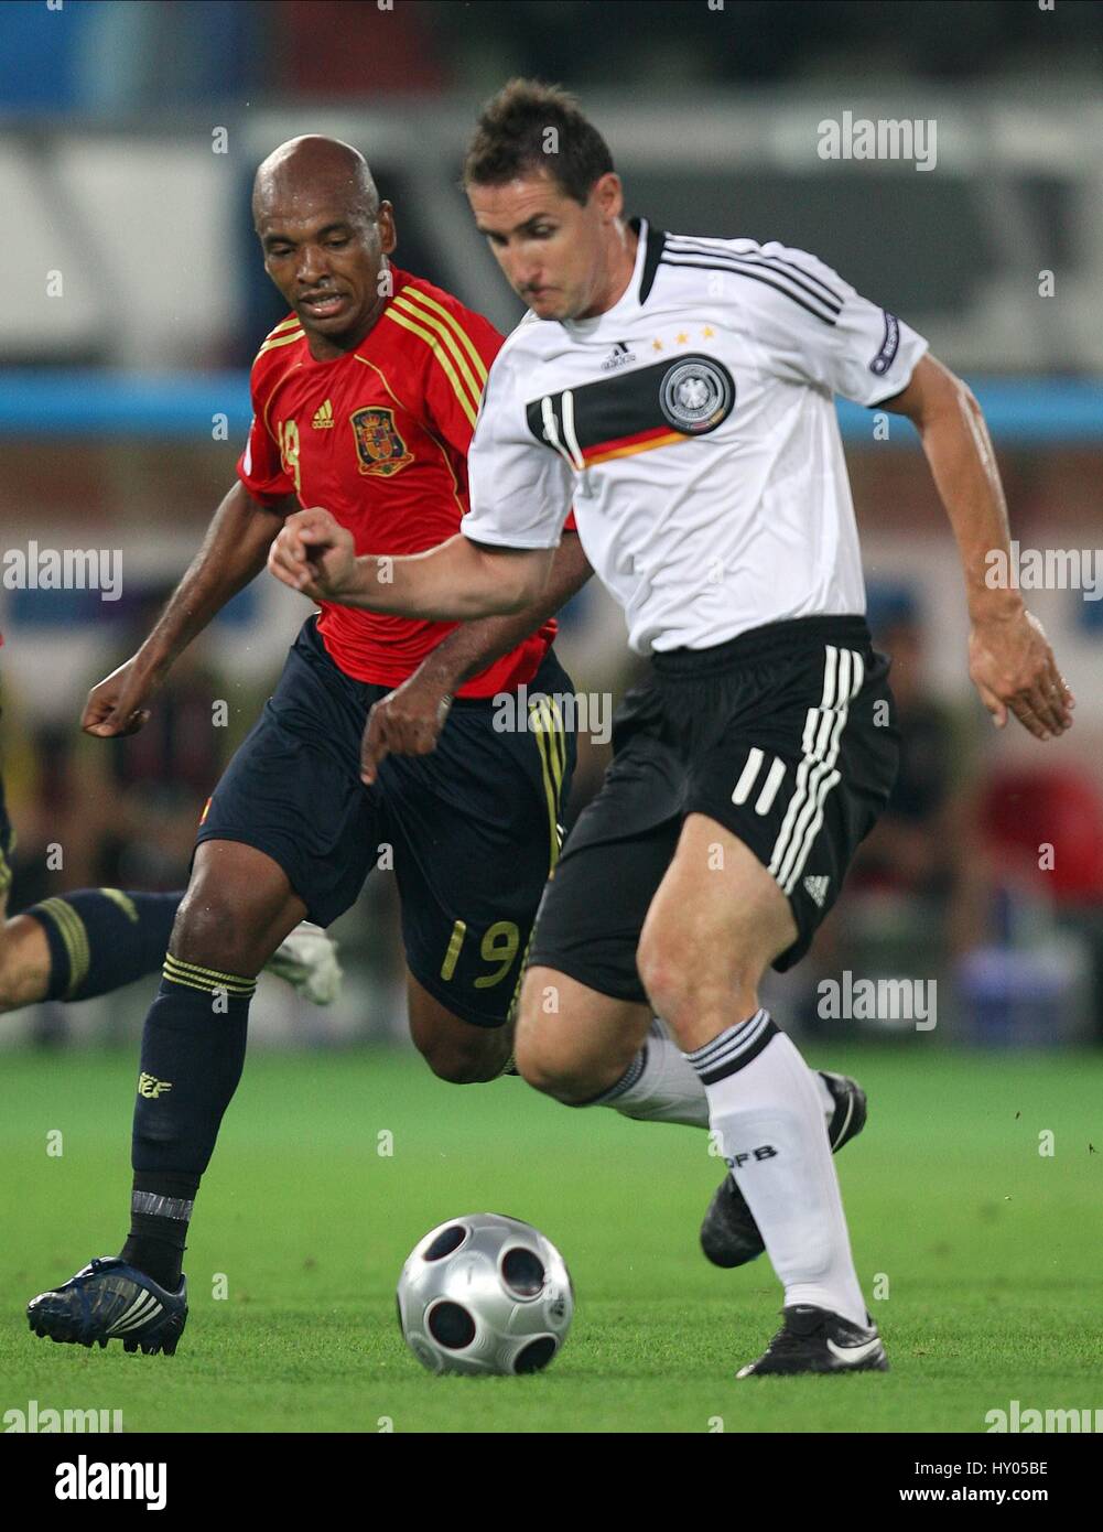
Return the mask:
POLYGON ((457 533, 426 553, 357 558, 352 533, 316 506, 288 516, 268 553, 268 568, 311 601, 467 622, 533 605, 547 585, 553 553, 487 547, 457 533))

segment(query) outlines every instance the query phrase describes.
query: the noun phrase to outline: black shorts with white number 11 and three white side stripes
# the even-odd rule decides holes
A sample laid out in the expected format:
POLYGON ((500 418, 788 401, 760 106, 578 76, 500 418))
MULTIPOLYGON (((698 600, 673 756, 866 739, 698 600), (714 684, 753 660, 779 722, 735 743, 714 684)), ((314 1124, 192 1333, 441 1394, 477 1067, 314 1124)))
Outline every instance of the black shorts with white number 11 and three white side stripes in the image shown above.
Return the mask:
POLYGON ((790 968, 896 778, 887 674, 864 617, 777 622, 712 650, 656 654, 617 709, 613 763, 544 893, 529 962, 645 1002, 643 918, 682 821, 705 813, 789 898, 797 941, 774 967, 790 968))

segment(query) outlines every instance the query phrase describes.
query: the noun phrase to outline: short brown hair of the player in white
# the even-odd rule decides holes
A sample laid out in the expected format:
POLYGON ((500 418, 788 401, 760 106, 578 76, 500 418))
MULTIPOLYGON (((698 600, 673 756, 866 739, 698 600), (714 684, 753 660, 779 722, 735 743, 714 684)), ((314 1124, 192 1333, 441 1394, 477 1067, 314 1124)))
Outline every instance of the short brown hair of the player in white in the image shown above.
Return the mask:
POLYGON ((613 155, 561 86, 510 80, 483 107, 461 184, 502 185, 529 170, 547 170, 567 196, 585 205, 594 181, 613 170, 613 155), (548 129, 555 130, 550 136, 548 129))

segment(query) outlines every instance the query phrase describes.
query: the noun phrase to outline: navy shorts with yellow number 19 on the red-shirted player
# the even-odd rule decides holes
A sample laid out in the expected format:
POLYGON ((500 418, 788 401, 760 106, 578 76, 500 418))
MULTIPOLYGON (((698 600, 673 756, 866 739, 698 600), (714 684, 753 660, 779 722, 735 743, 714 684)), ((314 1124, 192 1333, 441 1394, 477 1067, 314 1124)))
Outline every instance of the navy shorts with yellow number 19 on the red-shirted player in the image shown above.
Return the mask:
POLYGON ((265 852, 319 925, 349 908, 374 867, 392 870, 414 977, 466 1022, 501 1026, 574 768, 562 709, 538 696, 571 682, 548 651, 529 682, 527 729, 502 728, 513 708, 495 699, 457 699, 430 755, 388 755, 365 787, 360 737, 389 691, 339 669, 309 617, 198 840, 265 852))

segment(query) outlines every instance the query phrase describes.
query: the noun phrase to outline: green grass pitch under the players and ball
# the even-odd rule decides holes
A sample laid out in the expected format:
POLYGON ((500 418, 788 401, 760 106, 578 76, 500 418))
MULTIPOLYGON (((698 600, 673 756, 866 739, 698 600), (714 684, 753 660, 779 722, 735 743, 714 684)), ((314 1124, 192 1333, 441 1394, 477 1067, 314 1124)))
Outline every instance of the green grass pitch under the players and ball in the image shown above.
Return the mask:
POLYGON ((780 1290, 764 1258, 728 1273, 699 1253, 720 1172, 706 1135, 568 1111, 519 1080, 443 1085, 381 1049, 250 1059, 198 1201, 176 1357, 52 1345, 23 1307, 119 1249, 136 1063, 9 1052, 0 1411, 121 1409, 127 1431, 789 1432, 1103 1406, 1103 1059, 806 1052, 869 1091, 836 1163, 864 1290, 887 1287, 870 1302, 887 1376, 734 1382, 780 1290), (535 1223, 571 1268, 574 1325, 547 1373, 432 1377, 398 1334, 411 1247, 483 1210, 535 1223))

